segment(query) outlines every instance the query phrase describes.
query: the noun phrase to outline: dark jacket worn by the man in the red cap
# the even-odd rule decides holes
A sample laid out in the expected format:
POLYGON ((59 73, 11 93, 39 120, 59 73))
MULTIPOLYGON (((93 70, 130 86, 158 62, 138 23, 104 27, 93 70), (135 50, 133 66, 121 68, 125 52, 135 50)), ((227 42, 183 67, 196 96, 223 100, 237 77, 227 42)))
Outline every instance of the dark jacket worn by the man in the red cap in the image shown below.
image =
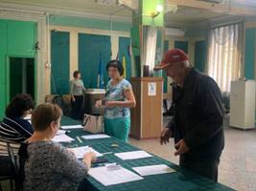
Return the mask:
POLYGON ((220 159, 224 146, 221 91, 208 75, 191 69, 182 88, 175 86, 175 116, 169 123, 175 143, 184 139, 189 152, 181 157, 187 161, 220 159))

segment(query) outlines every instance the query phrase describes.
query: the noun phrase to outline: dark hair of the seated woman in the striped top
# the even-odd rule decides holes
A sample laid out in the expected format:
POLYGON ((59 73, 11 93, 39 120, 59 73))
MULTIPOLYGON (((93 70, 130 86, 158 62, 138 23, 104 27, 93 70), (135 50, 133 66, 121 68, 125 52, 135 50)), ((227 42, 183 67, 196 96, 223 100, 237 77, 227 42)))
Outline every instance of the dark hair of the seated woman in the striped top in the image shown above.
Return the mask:
POLYGON ((28 94, 19 94, 12 98, 6 108, 6 117, 21 117, 25 111, 34 109, 35 102, 28 94))

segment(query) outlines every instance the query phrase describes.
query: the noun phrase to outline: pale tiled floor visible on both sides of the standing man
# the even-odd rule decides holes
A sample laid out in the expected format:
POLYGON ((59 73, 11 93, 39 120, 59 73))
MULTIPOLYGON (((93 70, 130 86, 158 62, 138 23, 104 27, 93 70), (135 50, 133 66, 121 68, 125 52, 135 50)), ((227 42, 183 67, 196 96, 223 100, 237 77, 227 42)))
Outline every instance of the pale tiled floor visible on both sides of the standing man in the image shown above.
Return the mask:
MULTIPOLYGON (((168 119, 165 119, 165 122, 168 119)), ((256 129, 240 130, 225 127, 225 147, 221 155, 219 182, 240 191, 256 191, 256 129)), ((161 158, 178 163, 174 156, 174 140, 160 145, 159 139, 129 142, 161 158)))

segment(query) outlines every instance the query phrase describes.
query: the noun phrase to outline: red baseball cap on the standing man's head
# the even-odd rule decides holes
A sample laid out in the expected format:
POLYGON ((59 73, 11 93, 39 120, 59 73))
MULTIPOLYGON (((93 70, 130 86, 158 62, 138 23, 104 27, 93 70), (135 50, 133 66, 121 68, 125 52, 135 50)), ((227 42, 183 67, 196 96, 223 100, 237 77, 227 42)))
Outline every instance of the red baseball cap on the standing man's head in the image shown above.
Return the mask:
POLYGON ((189 59, 187 53, 184 53, 180 49, 170 49, 164 55, 162 62, 159 65, 155 65, 153 70, 159 71, 166 69, 173 62, 183 62, 189 59))

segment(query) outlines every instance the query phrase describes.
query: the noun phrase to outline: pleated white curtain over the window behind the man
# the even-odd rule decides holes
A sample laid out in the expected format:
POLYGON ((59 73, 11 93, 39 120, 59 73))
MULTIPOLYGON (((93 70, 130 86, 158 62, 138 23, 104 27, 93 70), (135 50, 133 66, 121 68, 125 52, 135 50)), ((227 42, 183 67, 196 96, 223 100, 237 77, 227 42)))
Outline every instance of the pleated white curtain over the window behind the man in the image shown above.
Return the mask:
POLYGON ((231 80, 241 76, 243 24, 234 24, 210 31, 207 74, 212 76, 221 92, 230 92, 231 80))

